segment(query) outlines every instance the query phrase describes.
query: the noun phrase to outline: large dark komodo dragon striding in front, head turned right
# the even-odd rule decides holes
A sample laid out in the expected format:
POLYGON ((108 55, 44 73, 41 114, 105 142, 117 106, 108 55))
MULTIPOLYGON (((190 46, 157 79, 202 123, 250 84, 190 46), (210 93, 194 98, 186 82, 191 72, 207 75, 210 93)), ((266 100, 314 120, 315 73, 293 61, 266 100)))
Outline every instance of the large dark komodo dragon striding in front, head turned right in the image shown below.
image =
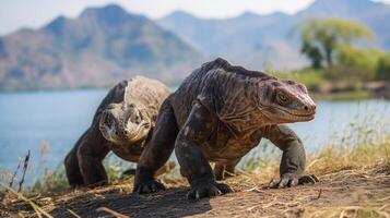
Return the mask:
POLYGON ((304 175, 306 157, 300 140, 281 123, 309 121, 315 112, 316 105, 302 84, 234 66, 221 58, 208 62, 163 102, 137 168, 134 192, 165 189, 154 174, 174 148, 180 172, 191 185, 189 198, 231 192, 215 178, 233 172, 262 137, 283 150, 281 179, 273 187, 311 180, 304 175), (215 175, 209 161, 215 162, 215 175))

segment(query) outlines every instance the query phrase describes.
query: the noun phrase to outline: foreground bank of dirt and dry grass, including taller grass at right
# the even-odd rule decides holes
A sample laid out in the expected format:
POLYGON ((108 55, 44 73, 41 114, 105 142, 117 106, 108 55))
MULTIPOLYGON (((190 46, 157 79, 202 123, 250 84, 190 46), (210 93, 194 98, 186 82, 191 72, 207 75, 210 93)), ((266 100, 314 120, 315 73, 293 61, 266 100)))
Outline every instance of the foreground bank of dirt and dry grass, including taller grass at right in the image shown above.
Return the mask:
MULTIPOLYGON (((132 194, 132 178, 127 178, 95 190, 27 196, 54 217, 389 217, 390 141, 355 146, 344 155, 329 149, 308 158, 308 172, 321 180, 315 185, 263 190, 277 175, 274 162, 226 180, 234 193, 196 203, 186 201, 188 184, 175 177, 163 177, 168 190, 153 195, 132 194)), ((26 201, 9 203, 8 215, 34 215, 26 201)))

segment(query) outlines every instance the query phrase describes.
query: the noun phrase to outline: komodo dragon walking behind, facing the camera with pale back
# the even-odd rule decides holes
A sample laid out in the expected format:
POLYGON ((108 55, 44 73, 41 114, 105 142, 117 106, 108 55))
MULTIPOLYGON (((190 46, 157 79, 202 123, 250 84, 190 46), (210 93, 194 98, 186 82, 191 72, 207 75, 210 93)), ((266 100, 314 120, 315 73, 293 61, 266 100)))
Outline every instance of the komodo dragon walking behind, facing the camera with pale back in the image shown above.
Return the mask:
POLYGON ((66 157, 70 185, 106 184, 102 160, 109 150, 137 162, 168 95, 169 89, 164 84, 142 76, 118 83, 110 89, 97 108, 91 126, 66 157))

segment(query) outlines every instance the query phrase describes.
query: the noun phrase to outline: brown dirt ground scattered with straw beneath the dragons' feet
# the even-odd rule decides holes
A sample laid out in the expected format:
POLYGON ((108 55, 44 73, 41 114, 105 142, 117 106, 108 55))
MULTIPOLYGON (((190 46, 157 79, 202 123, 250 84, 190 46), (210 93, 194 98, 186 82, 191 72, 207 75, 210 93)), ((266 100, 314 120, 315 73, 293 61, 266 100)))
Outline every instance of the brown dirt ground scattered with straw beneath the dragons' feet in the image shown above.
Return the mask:
MULTIPOLYGON (((248 175, 225 182, 234 193, 188 202, 186 183, 152 195, 132 194, 132 184, 28 196, 54 217, 389 217, 390 174, 383 167, 344 170, 320 182, 283 190, 253 186, 248 175), (117 214, 116 214, 117 213, 117 214)), ((4 201, 0 216, 36 217, 22 201, 4 201)))

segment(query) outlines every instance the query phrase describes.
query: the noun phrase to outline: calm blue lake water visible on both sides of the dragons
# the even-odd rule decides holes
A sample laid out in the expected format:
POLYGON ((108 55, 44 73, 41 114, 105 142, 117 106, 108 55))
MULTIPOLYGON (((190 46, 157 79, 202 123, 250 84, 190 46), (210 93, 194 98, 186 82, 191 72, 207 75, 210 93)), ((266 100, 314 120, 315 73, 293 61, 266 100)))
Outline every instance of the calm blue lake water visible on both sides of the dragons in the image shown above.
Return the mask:
MULTIPOLYGON (((62 164, 69 149, 90 125, 107 89, 0 93, 0 169, 14 170, 31 150, 27 182, 42 177, 44 168, 62 164), (43 145, 48 145, 42 155, 43 145)), ((363 114, 389 112, 388 100, 316 101, 316 119, 291 126, 310 153, 326 145, 335 132, 363 114)))

